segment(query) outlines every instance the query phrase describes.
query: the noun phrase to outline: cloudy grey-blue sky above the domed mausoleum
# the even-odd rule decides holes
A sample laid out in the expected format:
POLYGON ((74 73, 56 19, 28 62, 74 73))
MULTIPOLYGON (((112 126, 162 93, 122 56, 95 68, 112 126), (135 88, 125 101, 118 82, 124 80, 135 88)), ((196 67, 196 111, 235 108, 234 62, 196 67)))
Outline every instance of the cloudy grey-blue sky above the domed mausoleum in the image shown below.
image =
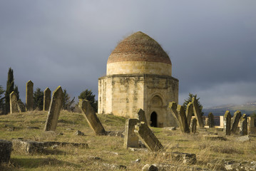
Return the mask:
POLYGON ((204 108, 256 101, 255 0, 0 0, 0 86, 11 67, 23 101, 29 80, 98 97, 108 56, 137 31, 168 52, 180 104, 188 93, 204 108))

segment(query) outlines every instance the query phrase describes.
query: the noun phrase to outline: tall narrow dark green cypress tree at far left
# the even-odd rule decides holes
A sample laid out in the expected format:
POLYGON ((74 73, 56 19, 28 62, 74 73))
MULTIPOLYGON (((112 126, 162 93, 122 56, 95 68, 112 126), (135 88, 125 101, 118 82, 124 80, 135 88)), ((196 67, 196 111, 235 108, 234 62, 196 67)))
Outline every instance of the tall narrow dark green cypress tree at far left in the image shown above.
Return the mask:
POLYGON ((8 78, 6 82, 6 91, 5 91, 5 104, 6 104, 5 113, 6 114, 10 113, 10 94, 13 90, 14 90, 14 71, 10 67, 8 71, 8 78))

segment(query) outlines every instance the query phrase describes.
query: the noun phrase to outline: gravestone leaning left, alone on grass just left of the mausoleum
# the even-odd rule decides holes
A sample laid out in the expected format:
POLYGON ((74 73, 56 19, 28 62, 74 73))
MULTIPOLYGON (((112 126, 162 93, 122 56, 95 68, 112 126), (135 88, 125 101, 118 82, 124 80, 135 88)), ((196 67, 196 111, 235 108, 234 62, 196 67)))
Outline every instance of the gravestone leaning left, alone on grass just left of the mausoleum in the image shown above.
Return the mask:
POLYGON ((94 133, 96 135, 106 135, 106 130, 103 128, 101 121, 93 111, 90 102, 88 100, 79 99, 79 107, 83 110, 83 116, 86 118, 88 125, 93 129, 94 133))

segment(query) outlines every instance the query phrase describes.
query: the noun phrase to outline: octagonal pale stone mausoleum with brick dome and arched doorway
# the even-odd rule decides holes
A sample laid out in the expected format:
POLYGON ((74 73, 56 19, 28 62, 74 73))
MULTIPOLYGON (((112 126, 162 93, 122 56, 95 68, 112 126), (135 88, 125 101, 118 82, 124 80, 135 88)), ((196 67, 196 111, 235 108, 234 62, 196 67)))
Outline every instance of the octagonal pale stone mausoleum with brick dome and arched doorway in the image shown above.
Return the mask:
POLYGON ((168 103, 178 103, 178 79, 163 48, 142 32, 118 43, 108 57, 106 76, 98 78, 98 113, 135 118, 145 111, 148 125, 176 125, 168 103))

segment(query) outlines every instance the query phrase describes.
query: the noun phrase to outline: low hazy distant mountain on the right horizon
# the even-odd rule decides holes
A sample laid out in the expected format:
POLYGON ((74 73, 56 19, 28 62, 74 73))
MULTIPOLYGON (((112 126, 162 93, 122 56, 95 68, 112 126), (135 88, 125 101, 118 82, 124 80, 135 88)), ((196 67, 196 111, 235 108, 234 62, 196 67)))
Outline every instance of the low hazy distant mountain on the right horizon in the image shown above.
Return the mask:
POLYGON ((208 115, 210 112, 213 115, 224 115, 226 110, 230 110, 230 114, 233 115, 235 111, 240 110, 241 113, 250 115, 256 113, 256 102, 245 103, 243 105, 221 105, 213 108, 203 108, 204 115, 208 115))

